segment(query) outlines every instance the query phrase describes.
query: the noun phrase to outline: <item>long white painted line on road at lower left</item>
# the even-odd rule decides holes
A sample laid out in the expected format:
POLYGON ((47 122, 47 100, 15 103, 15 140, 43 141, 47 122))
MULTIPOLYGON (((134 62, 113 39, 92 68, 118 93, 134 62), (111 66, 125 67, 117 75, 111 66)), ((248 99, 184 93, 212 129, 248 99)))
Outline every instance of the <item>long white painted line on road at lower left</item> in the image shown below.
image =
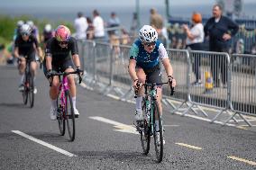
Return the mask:
POLYGON ((12 130, 12 131, 13 131, 14 133, 16 133, 16 134, 18 134, 18 135, 20 135, 20 136, 26 138, 26 139, 30 139, 30 140, 32 140, 32 141, 34 141, 34 142, 36 142, 36 143, 41 144, 41 145, 44 146, 44 147, 53 149, 53 150, 55 150, 55 151, 57 151, 57 152, 59 152, 59 153, 61 153, 61 154, 66 155, 66 156, 69 156, 69 157, 78 157, 78 156, 76 156, 76 155, 74 155, 74 154, 72 154, 72 153, 70 153, 70 152, 68 152, 68 151, 66 151, 66 150, 63 150, 62 148, 58 148, 58 147, 55 147, 55 146, 53 146, 53 145, 50 145, 49 143, 46 143, 46 142, 44 142, 44 141, 42 141, 42 140, 40 140, 40 139, 35 139, 35 138, 33 138, 32 136, 23 133, 22 131, 19 131, 19 130, 12 130))

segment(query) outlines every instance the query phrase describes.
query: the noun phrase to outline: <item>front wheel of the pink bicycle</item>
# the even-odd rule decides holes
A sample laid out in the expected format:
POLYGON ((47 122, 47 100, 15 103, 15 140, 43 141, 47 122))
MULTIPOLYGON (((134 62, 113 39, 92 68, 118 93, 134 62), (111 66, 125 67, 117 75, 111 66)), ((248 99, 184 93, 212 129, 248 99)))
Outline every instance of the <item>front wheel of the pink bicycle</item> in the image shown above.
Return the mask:
POLYGON ((69 131, 69 138, 70 141, 74 141, 75 135, 76 135, 76 125, 75 125, 75 113, 74 113, 74 107, 73 102, 71 100, 71 96, 69 94, 69 90, 65 93, 66 96, 66 120, 67 120, 67 128, 69 131))

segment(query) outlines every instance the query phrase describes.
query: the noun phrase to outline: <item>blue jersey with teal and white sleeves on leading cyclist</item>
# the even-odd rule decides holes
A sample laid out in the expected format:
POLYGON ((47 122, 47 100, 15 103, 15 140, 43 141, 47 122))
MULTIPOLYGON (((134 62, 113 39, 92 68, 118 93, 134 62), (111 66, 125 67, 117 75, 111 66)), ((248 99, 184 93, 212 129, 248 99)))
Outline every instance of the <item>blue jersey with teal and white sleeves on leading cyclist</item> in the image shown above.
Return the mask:
POLYGON ((156 47, 151 53, 144 49, 142 41, 139 39, 133 42, 133 46, 130 49, 130 59, 135 59, 138 67, 155 67, 160 63, 160 59, 163 58, 168 58, 168 55, 160 40, 156 41, 156 47))

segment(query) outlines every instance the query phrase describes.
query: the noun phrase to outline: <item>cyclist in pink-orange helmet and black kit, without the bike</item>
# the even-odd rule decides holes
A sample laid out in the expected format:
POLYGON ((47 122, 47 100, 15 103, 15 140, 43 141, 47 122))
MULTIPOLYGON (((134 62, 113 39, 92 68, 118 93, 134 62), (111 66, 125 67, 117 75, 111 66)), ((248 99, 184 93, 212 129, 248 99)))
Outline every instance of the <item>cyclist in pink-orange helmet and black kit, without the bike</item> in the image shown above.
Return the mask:
MULTIPOLYGON (((45 59, 44 59, 44 74, 50 78, 53 72, 73 72, 74 69, 80 70, 80 59, 78 56, 77 40, 70 36, 69 28, 64 25, 59 25, 55 30, 54 37, 46 43, 45 59), (71 56, 70 56, 71 53, 71 56), (71 58, 72 57, 72 58, 71 58)), ((74 106, 75 114, 78 115, 76 107, 76 85, 73 75, 68 76, 70 94, 74 106)), ((56 120, 57 115, 57 97, 59 93, 59 76, 53 76, 52 85, 50 86, 50 119, 56 120)))

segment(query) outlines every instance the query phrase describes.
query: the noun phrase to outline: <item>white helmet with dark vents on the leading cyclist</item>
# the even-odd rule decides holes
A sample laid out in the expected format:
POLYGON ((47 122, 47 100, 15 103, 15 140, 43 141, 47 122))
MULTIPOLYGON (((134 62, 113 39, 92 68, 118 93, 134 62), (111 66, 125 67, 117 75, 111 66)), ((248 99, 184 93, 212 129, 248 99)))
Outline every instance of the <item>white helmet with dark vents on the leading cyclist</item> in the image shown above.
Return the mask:
POLYGON ((158 32, 150 25, 142 26, 139 36, 142 42, 154 42, 158 40, 158 32))

